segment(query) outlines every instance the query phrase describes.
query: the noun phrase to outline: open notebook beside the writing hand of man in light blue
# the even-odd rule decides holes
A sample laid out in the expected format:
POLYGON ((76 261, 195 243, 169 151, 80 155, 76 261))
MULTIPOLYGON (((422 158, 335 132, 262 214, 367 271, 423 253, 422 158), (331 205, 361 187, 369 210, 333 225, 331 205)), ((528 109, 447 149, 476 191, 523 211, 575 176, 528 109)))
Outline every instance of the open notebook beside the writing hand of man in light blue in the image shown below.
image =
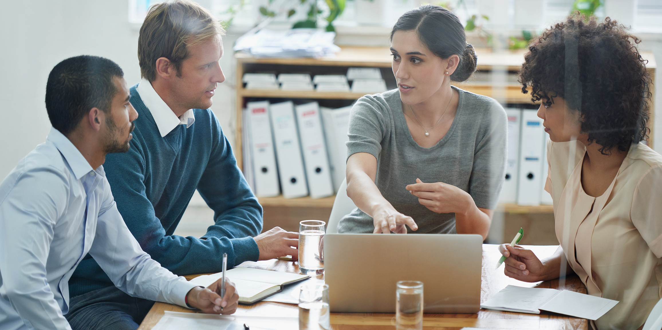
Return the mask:
MULTIPOLYGON (((209 286, 222 276, 222 272, 202 275, 193 278, 191 283, 209 286)), ((257 268, 236 267, 227 270, 225 278, 234 283, 239 294, 239 303, 258 302, 276 292, 281 292, 283 286, 303 281, 310 276, 286 272, 274 272, 257 268)))

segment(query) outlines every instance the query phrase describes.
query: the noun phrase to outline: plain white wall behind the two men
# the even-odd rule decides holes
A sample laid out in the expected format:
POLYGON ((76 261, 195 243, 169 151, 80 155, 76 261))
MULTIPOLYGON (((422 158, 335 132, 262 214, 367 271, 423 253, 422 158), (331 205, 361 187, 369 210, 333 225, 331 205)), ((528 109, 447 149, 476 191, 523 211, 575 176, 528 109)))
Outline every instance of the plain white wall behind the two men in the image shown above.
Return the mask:
MULTIPOLYGON (((129 85, 140 81, 139 26, 128 23, 127 0, 3 0, 1 5, 0 180, 48 134, 46 80, 58 62, 81 54, 103 56, 119 64, 129 85)), ((221 60, 228 74, 231 57, 221 60)), ((230 95, 230 86, 220 85, 213 109, 232 138, 230 95)))

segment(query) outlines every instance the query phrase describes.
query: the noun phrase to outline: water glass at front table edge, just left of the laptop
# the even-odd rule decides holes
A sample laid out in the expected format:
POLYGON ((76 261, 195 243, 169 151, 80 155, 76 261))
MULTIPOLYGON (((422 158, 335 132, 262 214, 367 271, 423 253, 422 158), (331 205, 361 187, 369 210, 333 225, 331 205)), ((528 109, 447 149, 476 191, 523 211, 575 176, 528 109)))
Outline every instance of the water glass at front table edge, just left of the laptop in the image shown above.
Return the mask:
POLYGON ((328 284, 301 287, 299 293, 299 330, 330 330, 328 284))

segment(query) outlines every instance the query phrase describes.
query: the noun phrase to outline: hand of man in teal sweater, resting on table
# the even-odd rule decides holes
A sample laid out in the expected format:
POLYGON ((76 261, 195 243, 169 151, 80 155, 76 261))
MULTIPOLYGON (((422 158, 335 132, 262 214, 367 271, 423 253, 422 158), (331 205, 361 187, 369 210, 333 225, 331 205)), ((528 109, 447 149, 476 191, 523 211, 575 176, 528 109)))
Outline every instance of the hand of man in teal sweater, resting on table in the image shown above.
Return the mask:
POLYGON ((260 257, 258 260, 269 260, 279 256, 291 255, 292 260, 299 258, 299 233, 285 231, 281 227, 273 227, 260 235, 253 237, 258 243, 260 257))

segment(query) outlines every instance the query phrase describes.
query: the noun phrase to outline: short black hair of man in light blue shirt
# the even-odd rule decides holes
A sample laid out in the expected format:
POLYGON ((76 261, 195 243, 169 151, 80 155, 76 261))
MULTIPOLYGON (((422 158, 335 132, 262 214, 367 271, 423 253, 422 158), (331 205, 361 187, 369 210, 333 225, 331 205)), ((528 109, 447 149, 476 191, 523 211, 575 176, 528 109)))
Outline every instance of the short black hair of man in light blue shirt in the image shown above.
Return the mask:
POLYGON ((108 113, 117 93, 113 78, 123 76, 117 63, 99 56, 75 56, 58 63, 46 82, 51 125, 67 135, 93 107, 108 113))

